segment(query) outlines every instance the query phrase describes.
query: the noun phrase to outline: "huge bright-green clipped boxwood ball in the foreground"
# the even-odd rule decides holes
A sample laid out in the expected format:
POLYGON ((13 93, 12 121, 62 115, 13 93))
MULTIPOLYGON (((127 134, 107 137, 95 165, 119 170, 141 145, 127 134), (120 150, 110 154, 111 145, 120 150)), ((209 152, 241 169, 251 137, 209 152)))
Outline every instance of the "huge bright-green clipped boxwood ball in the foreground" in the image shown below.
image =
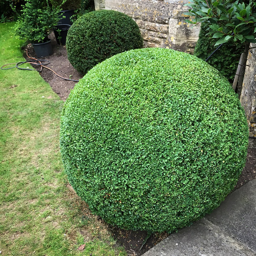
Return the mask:
POLYGON ((184 227, 220 205, 244 167, 248 128, 228 80, 184 52, 117 54, 70 93, 60 147, 94 214, 125 229, 184 227))

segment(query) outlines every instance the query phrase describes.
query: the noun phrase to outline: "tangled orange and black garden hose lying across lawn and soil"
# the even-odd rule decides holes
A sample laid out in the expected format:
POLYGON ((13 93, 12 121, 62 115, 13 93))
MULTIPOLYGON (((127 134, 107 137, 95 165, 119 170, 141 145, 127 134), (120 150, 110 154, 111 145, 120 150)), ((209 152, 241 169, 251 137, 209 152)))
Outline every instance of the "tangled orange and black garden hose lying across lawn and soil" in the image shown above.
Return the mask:
POLYGON ((46 67, 45 65, 49 65, 51 62, 49 60, 37 60, 35 58, 32 58, 28 55, 28 49, 27 49, 27 56, 29 59, 32 59, 32 60, 27 60, 27 61, 20 61, 20 62, 14 62, 14 63, 8 63, 8 64, 5 64, 1 67, 2 70, 6 70, 6 69, 11 69, 11 68, 18 68, 18 69, 23 69, 23 70, 35 70, 35 69, 31 69, 31 68, 20 68, 20 66, 24 63, 29 63, 31 65, 37 65, 37 66, 40 66, 41 69, 38 71, 38 72, 41 72, 43 68, 47 68, 49 70, 51 70, 56 76, 59 76, 60 78, 62 79, 65 79, 65 80, 68 80, 68 81, 74 81, 74 82, 79 82, 79 80, 74 80, 74 79, 69 79, 69 78, 65 78, 63 76, 60 76, 58 75, 54 70, 52 70, 51 68, 48 68, 46 67), (36 62, 39 62, 39 63, 36 63, 36 62), (44 64, 42 64, 42 62, 46 62, 44 64), (9 65, 12 65, 12 64, 15 64, 14 67, 11 67, 11 68, 4 68, 6 66, 9 66, 9 65))

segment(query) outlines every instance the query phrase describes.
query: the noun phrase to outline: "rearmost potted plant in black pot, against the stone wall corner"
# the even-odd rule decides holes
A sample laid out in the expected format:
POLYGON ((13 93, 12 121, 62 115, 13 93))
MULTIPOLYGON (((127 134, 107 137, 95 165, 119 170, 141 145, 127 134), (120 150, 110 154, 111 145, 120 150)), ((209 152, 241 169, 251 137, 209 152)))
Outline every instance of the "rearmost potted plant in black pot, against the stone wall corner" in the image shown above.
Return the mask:
POLYGON ((52 6, 55 8, 60 8, 62 11, 60 11, 60 20, 58 21, 58 24, 68 24, 72 25, 73 20, 76 16, 76 10, 80 8, 81 6, 81 0, 51 0, 52 6), (65 16, 63 18, 63 15, 65 16))

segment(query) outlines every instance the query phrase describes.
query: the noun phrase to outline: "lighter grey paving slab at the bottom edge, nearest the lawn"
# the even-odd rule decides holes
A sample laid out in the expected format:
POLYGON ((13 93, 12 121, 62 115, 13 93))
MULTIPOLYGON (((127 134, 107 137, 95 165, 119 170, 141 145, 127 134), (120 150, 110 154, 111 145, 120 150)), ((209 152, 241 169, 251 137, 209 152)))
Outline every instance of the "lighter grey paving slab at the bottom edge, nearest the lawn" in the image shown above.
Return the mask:
MULTIPOLYGON (((143 256, 248 256, 240 244, 230 243, 203 221, 182 228, 154 246, 143 256)), ((245 250, 246 251, 246 250, 245 250)), ((250 255, 251 256, 251 255, 250 255)))

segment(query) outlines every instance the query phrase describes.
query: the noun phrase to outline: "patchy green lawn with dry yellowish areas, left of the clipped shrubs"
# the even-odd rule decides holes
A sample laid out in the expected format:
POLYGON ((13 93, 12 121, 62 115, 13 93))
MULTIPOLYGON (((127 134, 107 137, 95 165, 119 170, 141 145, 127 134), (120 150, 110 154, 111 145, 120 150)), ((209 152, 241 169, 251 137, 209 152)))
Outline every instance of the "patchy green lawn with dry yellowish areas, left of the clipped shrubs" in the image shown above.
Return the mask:
MULTIPOLYGON (((12 26, 0 24, 0 66, 24 60, 12 26)), ((1 255, 126 255, 63 172, 63 101, 36 71, 0 70, 0 90, 1 255)))

